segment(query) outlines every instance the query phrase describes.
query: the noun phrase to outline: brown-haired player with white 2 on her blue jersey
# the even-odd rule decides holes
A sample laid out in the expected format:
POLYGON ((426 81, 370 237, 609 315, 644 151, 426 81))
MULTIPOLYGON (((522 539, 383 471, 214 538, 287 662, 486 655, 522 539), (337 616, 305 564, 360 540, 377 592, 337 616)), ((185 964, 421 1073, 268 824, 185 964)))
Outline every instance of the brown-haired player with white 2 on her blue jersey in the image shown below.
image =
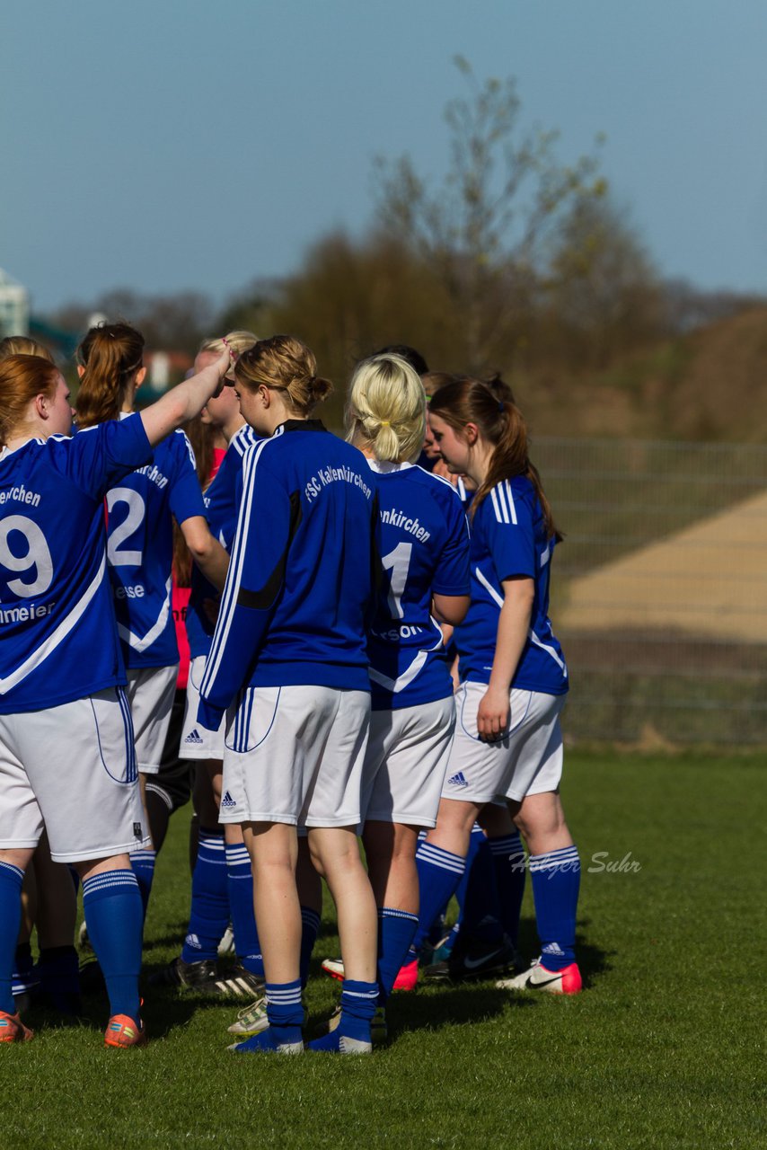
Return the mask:
MULTIPOLYGON (((78 429, 129 415, 146 376, 141 334, 128 323, 91 328, 78 360, 78 429)), ((229 557, 208 529, 194 457, 183 431, 160 444, 149 465, 107 492, 106 507, 107 562, 144 793, 146 777, 160 770, 178 673, 170 610, 172 519, 194 562, 218 586, 229 557)), ((145 913, 154 864, 153 845, 133 853, 145 913)))

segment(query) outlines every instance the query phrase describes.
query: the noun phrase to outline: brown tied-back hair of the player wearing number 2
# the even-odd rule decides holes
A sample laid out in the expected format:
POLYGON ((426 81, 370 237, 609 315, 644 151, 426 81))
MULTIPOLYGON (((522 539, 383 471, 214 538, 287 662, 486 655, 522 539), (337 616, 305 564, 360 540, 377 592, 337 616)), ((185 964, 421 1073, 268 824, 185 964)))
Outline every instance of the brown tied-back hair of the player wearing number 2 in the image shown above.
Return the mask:
POLYGON ((77 392, 78 427, 118 417, 143 356, 144 336, 130 324, 91 328, 77 348, 77 361, 85 368, 77 392))

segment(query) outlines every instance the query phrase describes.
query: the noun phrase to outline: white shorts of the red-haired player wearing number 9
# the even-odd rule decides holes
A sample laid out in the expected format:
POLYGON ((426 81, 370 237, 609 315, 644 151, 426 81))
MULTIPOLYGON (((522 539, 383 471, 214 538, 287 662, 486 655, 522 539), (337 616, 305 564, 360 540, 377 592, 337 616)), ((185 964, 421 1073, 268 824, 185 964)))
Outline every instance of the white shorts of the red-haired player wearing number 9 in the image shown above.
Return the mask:
POLYGON ((0 715, 0 849, 84 862, 149 845, 122 688, 47 711, 0 715))

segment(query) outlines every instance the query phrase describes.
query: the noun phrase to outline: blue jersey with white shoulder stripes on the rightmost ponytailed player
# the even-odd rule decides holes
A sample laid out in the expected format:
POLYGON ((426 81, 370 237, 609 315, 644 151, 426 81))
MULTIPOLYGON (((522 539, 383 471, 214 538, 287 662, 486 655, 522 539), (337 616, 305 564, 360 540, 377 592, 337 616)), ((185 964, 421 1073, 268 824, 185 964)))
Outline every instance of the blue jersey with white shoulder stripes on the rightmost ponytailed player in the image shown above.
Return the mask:
POLYGON ((501 582, 515 575, 532 580, 535 598, 528 642, 512 687, 546 695, 568 689, 562 649, 549 620, 549 574, 554 539, 535 488, 523 476, 498 483, 471 520, 471 606, 455 628, 461 680, 489 683, 504 605, 501 582))

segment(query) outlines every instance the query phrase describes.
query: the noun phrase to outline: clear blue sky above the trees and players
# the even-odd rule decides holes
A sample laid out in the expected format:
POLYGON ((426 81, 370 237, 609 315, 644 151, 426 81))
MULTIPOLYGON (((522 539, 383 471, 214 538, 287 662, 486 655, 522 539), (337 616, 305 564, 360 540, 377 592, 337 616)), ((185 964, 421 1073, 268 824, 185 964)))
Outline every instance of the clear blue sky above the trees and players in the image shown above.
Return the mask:
POLYGON ((764 0, 6 0, 0 267, 38 310, 216 300, 361 230, 376 154, 438 178, 452 59, 603 169, 666 276, 767 293, 764 0))

